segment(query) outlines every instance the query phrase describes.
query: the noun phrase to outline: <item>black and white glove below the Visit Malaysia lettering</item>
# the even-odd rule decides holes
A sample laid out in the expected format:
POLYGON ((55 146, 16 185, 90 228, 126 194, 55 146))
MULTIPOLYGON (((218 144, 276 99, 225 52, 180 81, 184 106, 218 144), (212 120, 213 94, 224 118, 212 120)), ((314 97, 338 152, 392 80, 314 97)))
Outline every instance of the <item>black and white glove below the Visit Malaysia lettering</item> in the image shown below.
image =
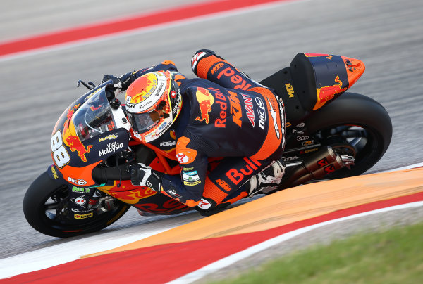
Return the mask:
POLYGON ((129 166, 130 183, 133 186, 148 186, 153 191, 161 191, 161 173, 154 171, 145 164, 133 164, 129 166))

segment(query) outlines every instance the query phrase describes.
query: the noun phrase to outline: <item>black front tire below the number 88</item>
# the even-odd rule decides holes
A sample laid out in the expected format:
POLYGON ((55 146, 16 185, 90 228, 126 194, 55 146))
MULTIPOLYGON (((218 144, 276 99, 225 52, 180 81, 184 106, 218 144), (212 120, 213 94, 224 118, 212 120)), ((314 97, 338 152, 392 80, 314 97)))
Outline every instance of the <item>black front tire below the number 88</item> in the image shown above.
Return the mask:
POLYGON ((23 198, 23 213, 27 222, 40 233, 67 238, 106 228, 121 218, 130 208, 129 205, 116 200, 115 207, 109 212, 66 222, 66 219, 58 217, 55 209, 61 201, 68 198, 68 195, 68 186, 50 179, 47 172, 42 173, 32 182, 23 198))

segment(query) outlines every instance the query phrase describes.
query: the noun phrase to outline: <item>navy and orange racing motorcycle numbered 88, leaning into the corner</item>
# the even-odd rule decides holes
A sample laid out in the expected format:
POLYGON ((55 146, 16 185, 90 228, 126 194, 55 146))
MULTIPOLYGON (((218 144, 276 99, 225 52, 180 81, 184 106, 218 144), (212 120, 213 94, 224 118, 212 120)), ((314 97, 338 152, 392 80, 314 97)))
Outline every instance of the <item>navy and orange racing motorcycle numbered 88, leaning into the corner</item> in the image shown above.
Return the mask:
MULTIPOLYGON (((354 58, 298 53, 290 66, 260 82, 285 104, 287 167, 277 191, 360 175, 384 155, 392 136, 388 112, 372 98, 347 92, 364 69, 354 58)), ((164 151, 131 137, 125 106, 108 95, 111 81, 80 84, 89 91, 63 112, 51 136, 54 163, 25 194, 28 223, 63 238, 99 231, 131 206, 148 214, 192 209, 130 183, 134 162, 180 175, 175 148, 164 151)))

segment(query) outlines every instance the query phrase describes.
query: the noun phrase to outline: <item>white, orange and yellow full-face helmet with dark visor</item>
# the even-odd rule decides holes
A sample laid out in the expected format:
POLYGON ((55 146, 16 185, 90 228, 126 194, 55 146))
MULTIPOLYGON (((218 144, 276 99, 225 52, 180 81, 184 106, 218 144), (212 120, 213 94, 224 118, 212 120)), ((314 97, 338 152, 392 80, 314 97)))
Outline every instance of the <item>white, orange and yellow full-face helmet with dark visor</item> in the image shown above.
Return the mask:
POLYGON ((175 122, 182 98, 173 74, 157 71, 142 75, 130 84, 125 103, 135 138, 149 143, 175 122))

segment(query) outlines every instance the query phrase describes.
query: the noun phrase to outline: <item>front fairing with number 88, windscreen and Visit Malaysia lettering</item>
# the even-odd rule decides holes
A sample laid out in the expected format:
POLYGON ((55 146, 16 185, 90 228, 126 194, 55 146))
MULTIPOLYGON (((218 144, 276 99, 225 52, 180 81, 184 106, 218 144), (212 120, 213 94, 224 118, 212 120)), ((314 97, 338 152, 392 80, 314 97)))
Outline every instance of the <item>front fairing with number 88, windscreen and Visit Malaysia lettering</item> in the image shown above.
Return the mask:
POLYGON ((128 148, 129 122, 121 108, 111 108, 105 86, 98 86, 70 105, 51 136, 54 166, 75 186, 94 186, 92 169, 128 148))

